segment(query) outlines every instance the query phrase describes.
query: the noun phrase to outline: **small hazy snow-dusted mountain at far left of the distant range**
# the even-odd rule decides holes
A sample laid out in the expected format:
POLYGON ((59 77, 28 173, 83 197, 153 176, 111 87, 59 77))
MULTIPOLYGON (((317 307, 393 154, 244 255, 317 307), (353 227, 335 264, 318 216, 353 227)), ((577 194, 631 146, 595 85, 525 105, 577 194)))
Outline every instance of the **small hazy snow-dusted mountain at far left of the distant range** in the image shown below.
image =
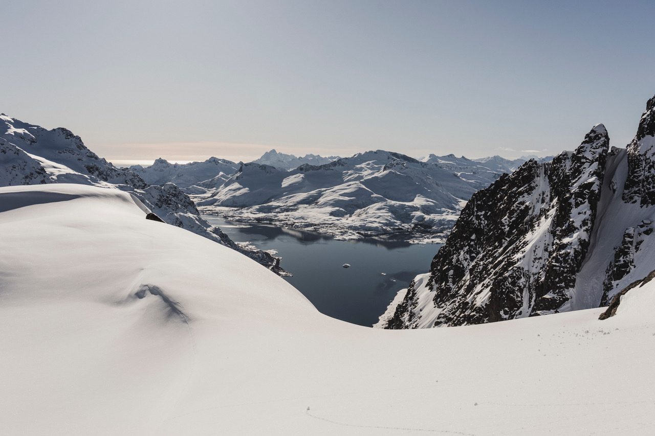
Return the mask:
POLYGON ((189 188, 210 179, 220 180, 223 183, 238 169, 238 164, 215 157, 208 158, 204 162, 188 164, 171 164, 166 159, 159 158, 151 166, 130 166, 130 170, 151 185, 175 183, 180 188, 189 188))

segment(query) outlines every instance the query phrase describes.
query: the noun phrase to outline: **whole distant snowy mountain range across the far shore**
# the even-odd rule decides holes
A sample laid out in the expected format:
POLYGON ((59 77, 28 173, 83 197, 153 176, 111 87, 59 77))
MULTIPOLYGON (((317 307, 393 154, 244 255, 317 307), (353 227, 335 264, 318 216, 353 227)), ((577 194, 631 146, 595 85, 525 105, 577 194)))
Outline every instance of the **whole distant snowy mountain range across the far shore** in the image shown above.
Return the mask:
POLYGON ((204 213, 237 221, 306 228, 340 239, 395 234, 440 242, 474 192, 528 159, 430 154, 417 160, 383 150, 349 158, 296 157, 273 149, 247 164, 215 157, 171 164, 159 158, 130 170, 147 183, 175 183, 204 213))

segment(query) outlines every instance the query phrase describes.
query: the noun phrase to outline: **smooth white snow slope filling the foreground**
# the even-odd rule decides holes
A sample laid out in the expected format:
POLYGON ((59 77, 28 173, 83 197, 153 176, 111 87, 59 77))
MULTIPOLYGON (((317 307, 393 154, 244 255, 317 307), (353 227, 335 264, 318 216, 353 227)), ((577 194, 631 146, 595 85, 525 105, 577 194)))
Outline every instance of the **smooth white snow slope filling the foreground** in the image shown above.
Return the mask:
POLYGON ((605 321, 381 331, 128 193, 5 187, 0 205, 3 433, 655 431, 650 283, 605 321))

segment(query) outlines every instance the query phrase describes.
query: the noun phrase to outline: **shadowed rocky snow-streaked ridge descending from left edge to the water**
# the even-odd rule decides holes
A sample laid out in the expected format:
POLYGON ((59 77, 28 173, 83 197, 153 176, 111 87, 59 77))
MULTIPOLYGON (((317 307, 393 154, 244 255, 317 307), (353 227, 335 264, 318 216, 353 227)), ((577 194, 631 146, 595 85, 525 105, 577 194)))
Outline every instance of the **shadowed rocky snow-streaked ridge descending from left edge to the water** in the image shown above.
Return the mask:
POLYGON ((132 170, 100 158, 65 128, 47 130, 0 115, 0 186, 43 183, 80 183, 130 192, 166 223, 227 245, 286 274, 279 258, 252 245, 236 244, 202 219, 189 196, 173 183, 149 185, 132 170))

